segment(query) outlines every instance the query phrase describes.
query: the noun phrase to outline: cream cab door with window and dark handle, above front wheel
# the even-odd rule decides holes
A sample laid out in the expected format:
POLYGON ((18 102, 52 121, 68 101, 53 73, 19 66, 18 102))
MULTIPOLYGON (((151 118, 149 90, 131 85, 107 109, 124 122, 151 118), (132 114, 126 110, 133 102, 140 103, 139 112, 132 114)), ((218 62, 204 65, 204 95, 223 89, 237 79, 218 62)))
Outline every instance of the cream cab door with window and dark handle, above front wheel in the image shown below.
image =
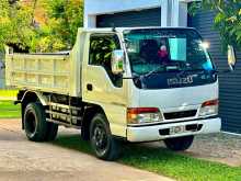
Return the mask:
POLYGON ((120 49, 116 34, 90 35, 83 98, 87 102, 102 106, 114 135, 125 136, 126 86, 120 75, 112 72, 111 57, 114 49, 120 49))

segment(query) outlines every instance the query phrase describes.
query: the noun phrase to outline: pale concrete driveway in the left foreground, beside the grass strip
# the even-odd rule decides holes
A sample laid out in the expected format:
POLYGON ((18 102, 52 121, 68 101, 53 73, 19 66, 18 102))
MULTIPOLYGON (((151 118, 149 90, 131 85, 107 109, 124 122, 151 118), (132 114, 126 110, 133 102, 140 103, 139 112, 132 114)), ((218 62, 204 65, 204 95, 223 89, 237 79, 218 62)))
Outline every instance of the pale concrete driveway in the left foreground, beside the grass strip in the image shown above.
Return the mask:
MULTIPOLYGON (((59 134, 77 134, 61 128, 59 134)), ((32 143, 21 131, 20 120, 0 120, 0 181, 171 181, 148 171, 49 143, 32 143)))

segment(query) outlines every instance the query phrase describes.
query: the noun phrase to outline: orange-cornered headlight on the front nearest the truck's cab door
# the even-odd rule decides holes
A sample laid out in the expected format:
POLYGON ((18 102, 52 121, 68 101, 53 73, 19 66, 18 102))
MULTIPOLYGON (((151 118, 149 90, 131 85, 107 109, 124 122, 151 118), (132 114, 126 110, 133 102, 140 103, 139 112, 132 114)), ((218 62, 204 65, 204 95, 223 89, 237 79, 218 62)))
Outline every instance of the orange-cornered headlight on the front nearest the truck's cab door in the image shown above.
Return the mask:
POLYGON ((162 121, 162 115, 157 108, 131 108, 127 109, 127 123, 141 124, 162 121))

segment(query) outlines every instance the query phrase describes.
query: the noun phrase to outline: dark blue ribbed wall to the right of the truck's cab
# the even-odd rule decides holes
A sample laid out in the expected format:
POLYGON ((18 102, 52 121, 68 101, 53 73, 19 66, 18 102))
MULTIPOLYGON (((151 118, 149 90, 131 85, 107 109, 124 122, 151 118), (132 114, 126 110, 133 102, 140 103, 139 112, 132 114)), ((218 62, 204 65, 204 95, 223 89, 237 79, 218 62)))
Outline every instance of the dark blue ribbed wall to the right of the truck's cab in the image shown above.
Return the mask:
POLYGON ((237 52, 237 69, 232 73, 221 72, 228 70, 227 54, 222 52, 221 37, 214 30, 215 12, 199 11, 190 16, 188 25, 194 26, 205 41, 210 43, 209 53, 219 72, 219 115, 222 118, 222 129, 241 134, 241 52, 237 52))

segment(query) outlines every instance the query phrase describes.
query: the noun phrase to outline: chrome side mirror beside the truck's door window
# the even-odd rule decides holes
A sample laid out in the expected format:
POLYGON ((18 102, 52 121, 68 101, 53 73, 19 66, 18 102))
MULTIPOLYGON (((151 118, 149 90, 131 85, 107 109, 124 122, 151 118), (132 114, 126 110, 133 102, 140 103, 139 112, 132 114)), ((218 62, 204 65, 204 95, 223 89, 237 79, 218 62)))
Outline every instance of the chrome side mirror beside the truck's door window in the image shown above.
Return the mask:
POLYGON ((125 57, 125 53, 122 49, 116 49, 112 52, 112 72, 114 75, 123 73, 124 57, 125 57))

